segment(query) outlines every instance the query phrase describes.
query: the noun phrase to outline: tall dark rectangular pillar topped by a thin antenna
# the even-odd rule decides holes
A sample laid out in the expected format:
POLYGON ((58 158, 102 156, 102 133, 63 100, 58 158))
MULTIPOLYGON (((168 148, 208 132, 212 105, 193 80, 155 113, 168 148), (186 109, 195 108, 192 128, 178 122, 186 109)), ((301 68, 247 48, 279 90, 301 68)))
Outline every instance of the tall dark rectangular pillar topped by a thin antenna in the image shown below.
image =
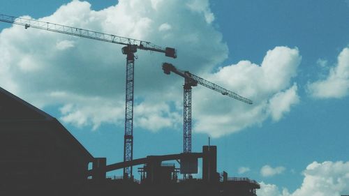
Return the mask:
POLYGON ((217 181, 217 146, 202 146, 202 154, 202 179, 217 181))

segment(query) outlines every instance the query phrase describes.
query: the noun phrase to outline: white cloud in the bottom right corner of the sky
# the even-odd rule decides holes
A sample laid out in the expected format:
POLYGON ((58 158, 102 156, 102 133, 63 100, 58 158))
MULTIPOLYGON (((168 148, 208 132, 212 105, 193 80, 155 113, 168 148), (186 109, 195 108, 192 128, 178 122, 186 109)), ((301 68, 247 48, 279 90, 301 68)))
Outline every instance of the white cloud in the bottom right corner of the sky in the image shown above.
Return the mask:
POLYGON ((272 184, 260 183, 261 189, 257 191, 258 196, 340 196, 349 193, 349 162, 343 163, 326 161, 324 163, 311 163, 303 172, 304 180, 302 186, 295 192, 288 193, 283 188, 272 184))

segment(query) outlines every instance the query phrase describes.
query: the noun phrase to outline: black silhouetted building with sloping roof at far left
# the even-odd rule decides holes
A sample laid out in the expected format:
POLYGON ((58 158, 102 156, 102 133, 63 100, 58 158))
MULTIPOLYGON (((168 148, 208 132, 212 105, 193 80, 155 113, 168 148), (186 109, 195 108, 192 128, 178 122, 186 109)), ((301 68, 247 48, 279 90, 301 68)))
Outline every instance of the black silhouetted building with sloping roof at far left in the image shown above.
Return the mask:
POLYGON ((0 195, 70 191, 93 160, 57 119, 0 88, 0 195))

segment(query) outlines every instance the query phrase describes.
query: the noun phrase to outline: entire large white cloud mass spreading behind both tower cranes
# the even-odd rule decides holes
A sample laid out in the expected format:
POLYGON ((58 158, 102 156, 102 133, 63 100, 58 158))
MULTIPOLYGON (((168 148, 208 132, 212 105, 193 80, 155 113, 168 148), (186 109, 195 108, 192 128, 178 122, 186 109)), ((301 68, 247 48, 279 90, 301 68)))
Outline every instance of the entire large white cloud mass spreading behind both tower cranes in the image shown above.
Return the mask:
MULTIPOLYGON (((136 53, 134 122, 138 128, 156 131, 183 123, 184 80, 163 74, 164 61, 254 101, 245 105, 195 87, 193 130, 197 133, 219 137, 269 117, 277 121, 299 100, 297 84, 292 82, 301 61, 297 48, 275 47, 260 66, 240 61, 210 73, 227 58, 228 47, 214 27, 207 0, 185 4, 121 0, 99 11, 91 10, 87 1, 74 0, 38 20, 177 49, 177 59, 156 52, 136 53)), ((38 107, 59 105, 59 118, 78 127, 124 126, 126 57, 121 45, 13 26, 0 33, 0 54, 1 87, 38 107)))

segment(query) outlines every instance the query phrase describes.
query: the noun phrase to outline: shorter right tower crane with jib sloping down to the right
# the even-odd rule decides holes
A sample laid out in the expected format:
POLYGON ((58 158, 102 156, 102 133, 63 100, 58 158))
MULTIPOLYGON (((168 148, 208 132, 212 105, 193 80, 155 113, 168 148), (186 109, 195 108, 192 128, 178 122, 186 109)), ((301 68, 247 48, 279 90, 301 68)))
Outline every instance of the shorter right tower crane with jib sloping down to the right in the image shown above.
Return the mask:
POLYGON ((184 89, 183 152, 184 153, 191 153, 191 87, 192 86, 198 86, 198 84, 201 84, 202 86, 205 86, 209 89, 222 93, 223 96, 229 96, 231 98, 235 98, 236 100, 240 100, 247 104, 253 103, 252 100, 239 96, 237 93, 224 89, 223 87, 218 86, 217 84, 214 84, 212 82, 209 82, 201 77, 198 77, 197 75, 193 75, 193 73, 180 70, 174 67, 171 63, 163 63, 163 72, 167 75, 170 75, 170 73, 172 72, 177 75, 180 75, 181 77, 184 77, 184 86, 183 86, 183 89, 184 89))

